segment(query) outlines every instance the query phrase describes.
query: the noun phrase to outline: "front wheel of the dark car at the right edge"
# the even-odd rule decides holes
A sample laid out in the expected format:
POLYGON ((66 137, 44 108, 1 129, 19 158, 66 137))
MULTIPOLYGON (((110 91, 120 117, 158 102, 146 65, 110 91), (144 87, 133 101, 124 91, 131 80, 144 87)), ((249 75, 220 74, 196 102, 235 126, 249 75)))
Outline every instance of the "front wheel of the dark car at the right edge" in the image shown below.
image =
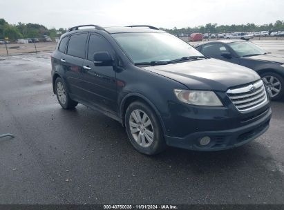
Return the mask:
POLYGON ((284 79, 277 73, 267 72, 261 75, 267 91, 272 100, 278 100, 284 96, 284 79), (278 92, 278 93, 277 93, 278 92))

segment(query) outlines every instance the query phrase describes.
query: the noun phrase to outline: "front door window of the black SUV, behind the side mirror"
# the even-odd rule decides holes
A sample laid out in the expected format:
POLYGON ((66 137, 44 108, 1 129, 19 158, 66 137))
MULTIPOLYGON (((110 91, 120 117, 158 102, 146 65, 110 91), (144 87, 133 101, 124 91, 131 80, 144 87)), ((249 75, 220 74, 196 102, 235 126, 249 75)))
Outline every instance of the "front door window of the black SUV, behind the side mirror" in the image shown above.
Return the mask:
POLYGON ((93 56, 98 51, 106 51, 111 56, 113 55, 113 49, 111 48, 111 45, 101 37, 100 35, 90 35, 90 39, 88 41, 88 60, 93 61, 93 56))

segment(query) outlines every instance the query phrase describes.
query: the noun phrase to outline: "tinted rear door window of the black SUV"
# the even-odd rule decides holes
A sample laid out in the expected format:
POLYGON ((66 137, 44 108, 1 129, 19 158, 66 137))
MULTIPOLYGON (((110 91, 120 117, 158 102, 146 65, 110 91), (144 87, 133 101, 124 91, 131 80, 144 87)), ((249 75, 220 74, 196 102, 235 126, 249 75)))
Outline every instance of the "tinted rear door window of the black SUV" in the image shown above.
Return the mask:
POLYGON ((87 36, 88 34, 86 33, 72 35, 68 42, 67 54, 84 58, 87 36))

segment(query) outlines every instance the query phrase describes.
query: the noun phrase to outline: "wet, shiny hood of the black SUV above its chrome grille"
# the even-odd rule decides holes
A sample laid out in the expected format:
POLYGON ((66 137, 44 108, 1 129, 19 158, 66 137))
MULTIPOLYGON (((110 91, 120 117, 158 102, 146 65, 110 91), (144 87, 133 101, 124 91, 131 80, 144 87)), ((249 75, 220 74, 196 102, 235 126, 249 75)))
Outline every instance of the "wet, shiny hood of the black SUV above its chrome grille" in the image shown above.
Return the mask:
POLYGON ((195 90, 225 92, 229 87, 260 79, 254 70, 218 59, 202 59, 143 68, 176 80, 187 86, 187 88, 195 90))

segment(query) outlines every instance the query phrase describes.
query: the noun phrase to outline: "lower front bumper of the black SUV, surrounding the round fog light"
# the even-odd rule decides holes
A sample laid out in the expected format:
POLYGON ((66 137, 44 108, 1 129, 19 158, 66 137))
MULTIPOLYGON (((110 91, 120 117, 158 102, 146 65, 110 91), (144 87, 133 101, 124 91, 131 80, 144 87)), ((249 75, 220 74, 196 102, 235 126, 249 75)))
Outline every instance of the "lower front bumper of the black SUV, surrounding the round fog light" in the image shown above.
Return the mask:
MULTIPOLYGON (((184 137, 173 137, 165 135, 166 142, 169 146, 179 147, 182 149, 190 149, 196 151, 219 151, 231 149, 250 142, 259 137, 269 128, 269 121, 272 117, 271 108, 266 108, 256 120, 239 126, 225 130, 216 131, 199 131, 193 132, 184 137), (200 145, 202 137, 209 136, 211 141, 206 146, 200 145)), ((218 122, 216 121, 218 124, 218 122)), ((223 128, 223 126, 220 126, 223 128)))

